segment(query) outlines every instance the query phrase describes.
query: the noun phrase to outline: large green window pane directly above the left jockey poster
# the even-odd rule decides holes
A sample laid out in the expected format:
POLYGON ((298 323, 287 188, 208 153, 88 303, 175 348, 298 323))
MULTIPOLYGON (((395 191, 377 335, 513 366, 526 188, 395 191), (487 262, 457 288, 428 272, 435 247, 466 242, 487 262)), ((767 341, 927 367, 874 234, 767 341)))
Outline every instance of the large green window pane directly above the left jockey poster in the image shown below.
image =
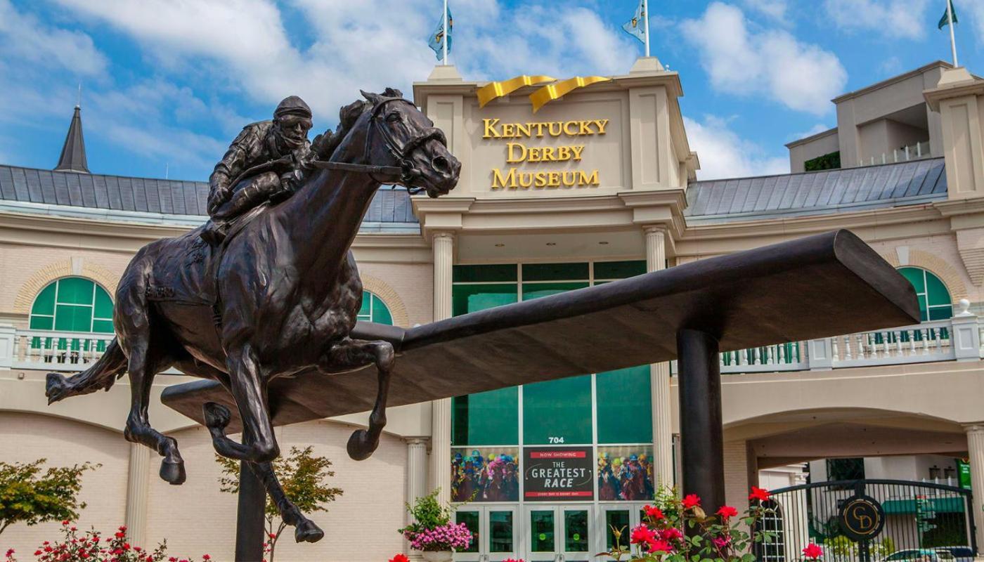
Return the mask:
POLYGON ((517 445, 519 442, 519 387, 452 399, 452 445, 517 445))

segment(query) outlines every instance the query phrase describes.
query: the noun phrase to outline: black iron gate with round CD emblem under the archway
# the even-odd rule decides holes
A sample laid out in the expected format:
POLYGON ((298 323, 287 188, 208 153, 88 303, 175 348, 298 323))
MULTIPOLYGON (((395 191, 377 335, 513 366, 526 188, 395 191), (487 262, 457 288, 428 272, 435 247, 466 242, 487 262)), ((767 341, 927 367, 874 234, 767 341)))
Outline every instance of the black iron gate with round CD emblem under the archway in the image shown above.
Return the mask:
POLYGON ((970 490, 932 482, 838 480, 772 490, 762 526, 776 540, 762 562, 795 562, 813 542, 824 562, 970 562, 977 551, 970 490))

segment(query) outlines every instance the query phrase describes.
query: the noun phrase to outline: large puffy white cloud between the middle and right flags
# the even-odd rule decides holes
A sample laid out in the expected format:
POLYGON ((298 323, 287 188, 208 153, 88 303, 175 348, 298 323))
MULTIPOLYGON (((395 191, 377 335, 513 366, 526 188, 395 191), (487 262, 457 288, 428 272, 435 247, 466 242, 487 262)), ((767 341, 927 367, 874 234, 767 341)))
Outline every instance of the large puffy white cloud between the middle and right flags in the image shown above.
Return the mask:
POLYGON ((791 109, 822 115, 847 83, 836 55, 788 31, 752 31, 734 6, 714 2, 682 29, 697 47, 711 86, 720 92, 761 94, 791 109))

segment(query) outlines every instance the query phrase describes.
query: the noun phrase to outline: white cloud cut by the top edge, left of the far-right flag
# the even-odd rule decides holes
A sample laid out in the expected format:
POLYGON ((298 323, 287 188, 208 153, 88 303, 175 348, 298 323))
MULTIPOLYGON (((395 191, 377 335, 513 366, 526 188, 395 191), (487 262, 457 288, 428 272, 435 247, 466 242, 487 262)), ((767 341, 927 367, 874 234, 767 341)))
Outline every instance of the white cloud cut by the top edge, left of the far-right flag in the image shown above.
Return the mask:
POLYGON ((930 6, 946 8, 930 0, 824 0, 828 18, 842 30, 869 31, 891 38, 918 39, 932 30, 930 6))

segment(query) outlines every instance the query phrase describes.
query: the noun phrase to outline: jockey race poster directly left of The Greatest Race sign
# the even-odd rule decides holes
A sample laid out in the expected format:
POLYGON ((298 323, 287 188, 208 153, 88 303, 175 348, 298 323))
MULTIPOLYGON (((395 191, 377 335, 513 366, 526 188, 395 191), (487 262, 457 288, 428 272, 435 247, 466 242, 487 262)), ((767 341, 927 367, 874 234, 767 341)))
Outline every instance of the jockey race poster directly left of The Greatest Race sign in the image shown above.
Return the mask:
POLYGON ((467 447, 451 450, 451 501, 520 501, 520 449, 467 447))

